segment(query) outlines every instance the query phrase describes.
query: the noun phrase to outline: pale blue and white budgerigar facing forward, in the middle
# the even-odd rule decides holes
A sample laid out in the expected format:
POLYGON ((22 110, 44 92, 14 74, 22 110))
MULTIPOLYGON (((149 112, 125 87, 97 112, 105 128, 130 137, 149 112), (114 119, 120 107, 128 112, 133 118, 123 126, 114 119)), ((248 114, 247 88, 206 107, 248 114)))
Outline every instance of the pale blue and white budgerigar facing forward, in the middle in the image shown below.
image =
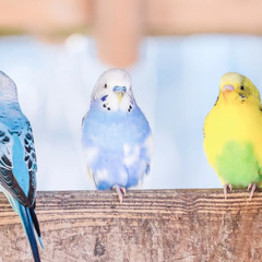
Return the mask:
POLYGON ((126 189, 148 174, 153 154, 151 128, 128 72, 110 69, 100 75, 82 126, 87 172, 98 190, 115 189, 121 203, 126 189))

